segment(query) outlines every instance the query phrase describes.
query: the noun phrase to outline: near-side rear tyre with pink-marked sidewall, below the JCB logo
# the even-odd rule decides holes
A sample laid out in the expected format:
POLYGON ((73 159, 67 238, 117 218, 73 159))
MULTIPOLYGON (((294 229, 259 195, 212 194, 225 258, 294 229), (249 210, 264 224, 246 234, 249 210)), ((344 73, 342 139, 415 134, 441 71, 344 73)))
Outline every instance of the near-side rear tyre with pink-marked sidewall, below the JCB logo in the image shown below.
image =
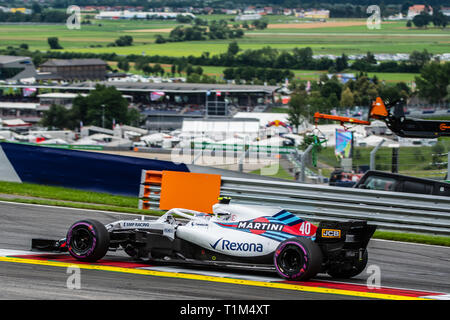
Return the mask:
POLYGON ((308 280, 322 265, 322 251, 309 238, 292 238, 281 242, 273 256, 277 273, 287 280, 308 280))

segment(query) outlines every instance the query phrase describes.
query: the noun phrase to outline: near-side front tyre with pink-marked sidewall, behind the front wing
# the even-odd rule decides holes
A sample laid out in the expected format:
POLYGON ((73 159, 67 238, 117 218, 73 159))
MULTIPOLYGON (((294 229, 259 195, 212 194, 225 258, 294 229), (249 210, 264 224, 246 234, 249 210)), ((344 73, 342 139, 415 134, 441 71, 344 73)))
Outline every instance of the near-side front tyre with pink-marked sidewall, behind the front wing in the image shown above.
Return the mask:
POLYGON ((70 255, 75 259, 95 262, 108 251, 109 233, 97 220, 81 220, 69 228, 66 243, 70 255))

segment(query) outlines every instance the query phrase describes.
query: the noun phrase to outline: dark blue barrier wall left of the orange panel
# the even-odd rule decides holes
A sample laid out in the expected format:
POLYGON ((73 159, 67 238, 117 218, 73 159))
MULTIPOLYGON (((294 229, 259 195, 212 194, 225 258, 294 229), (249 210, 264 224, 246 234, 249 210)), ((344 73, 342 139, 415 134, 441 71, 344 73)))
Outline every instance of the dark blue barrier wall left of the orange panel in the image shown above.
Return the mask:
POLYGON ((185 164, 1 142, 22 182, 137 197, 141 170, 189 172, 185 164))

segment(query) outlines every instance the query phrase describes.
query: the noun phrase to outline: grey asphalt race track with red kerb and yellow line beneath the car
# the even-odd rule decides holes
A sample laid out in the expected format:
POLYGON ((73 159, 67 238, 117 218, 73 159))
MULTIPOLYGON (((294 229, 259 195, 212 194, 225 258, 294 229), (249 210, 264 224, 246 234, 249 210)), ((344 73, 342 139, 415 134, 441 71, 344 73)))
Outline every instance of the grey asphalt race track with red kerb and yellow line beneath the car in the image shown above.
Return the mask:
POLYGON ((0 202, 0 299, 347 300, 449 298, 450 248, 371 240, 368 266, 380 270, 381 288, 368 289, 371 273, 346 281, 318 275, 307 283, 273 273, 223 271, 135 263, 111 253, 104 263, 76 264, 68 255, 29 252, 31 238, 60 239, 83 218, 103 223, 130 218, 93 210, 0 202), (74 263, 80 288, 69 289, 74 263), (369 280, 369 282, 368 282, 369 280))

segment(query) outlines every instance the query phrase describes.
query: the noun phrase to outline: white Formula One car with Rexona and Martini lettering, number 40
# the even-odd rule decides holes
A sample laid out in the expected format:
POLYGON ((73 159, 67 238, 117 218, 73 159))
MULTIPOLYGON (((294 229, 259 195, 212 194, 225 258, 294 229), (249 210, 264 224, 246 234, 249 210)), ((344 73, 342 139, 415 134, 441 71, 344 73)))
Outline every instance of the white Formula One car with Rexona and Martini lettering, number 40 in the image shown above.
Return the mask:
POLYGON ((157 220, 103 225, 86 219, 74 223, 62 240, 33 239, 32 248, 68 251, 88 262, 123 249, 152 263, 270 268, 288 280, 319 272, 350 278, 367 264, 366 247, 376 226, 366 221, 323 221, 316 227, 286 210, 229 201, 221 199, 212 215, 171 209, 157 220), (176 221, 175 215, 187 221, 176 221))

